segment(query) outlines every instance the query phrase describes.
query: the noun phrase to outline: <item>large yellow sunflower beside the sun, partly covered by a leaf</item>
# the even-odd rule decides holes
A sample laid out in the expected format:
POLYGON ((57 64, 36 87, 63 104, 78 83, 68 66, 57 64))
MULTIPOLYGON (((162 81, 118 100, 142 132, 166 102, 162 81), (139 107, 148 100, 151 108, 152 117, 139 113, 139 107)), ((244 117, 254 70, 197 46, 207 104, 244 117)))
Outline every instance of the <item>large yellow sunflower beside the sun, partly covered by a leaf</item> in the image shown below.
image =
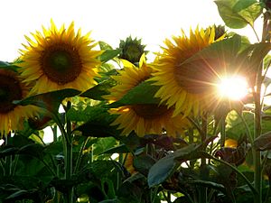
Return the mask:
POLYGON ((204 60, 194 62, 197 63, 197 69, 180 65, 212 42, 215 42, 215 29, 210 27, 200 30, 197 27, 194 32, 191 30, 190 37, 182 31, 181 36, 173 36, 173 42, 166 39, 163 52, 157 53, 154 63, 156 71, 150 80, 154 81, 154 85, 161 86, 155 97, 161 98, 161 102, 165 102, 168 107, 174 106, 173 116, 198 115, 203 108, 213 105, 210 98, 214 96, 214 87, 210 83, 217 77, 213 69, 206 66, 204 60))

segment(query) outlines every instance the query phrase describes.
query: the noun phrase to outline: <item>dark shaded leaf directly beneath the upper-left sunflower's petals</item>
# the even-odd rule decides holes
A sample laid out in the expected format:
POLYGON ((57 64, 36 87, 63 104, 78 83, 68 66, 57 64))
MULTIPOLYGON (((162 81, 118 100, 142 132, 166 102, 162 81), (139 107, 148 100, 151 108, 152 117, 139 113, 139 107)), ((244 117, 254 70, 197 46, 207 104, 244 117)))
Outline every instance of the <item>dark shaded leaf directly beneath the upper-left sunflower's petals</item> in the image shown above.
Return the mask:
POLYGON ((73 88, 65 88, 57 91, 51 91, 32 97, 27 97, 20 101, 14 101, 15 105, 27 106, 39 106, 50 112, 57 113, 61 101, 67 97, 74 97, 79 95, 80 91, 73 88))

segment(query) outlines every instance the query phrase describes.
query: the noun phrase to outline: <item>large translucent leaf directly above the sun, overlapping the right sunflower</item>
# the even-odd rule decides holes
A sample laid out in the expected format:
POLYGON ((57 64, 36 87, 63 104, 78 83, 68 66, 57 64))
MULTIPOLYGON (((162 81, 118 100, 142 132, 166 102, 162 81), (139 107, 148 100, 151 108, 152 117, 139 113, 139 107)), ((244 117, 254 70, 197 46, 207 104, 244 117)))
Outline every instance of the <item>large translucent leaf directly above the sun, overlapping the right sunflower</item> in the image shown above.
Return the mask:
POLYGON ((248 77, 249 81, 254 81, 258 66, 270 49, 270 43, 249 44, 236 34, 229 39, 210 44, 184 60, 181 66, 201 71, 202 80, 206 73, 210 72, 207 80, 210 80, 211 76, 216 79, 218 74, 220 77, 225 74, 240 74, 248 77))

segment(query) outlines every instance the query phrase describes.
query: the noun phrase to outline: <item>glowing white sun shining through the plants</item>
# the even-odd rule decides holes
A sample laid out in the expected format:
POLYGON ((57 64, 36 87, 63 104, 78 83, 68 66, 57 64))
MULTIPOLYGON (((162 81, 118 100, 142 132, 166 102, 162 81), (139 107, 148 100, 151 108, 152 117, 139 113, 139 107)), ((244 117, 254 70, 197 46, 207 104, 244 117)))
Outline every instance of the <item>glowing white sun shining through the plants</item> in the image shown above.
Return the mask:
POLYGON ((240 76, 220 78, 218 92, 220 97, 241 100, 248 95, 248 82, 240 76))

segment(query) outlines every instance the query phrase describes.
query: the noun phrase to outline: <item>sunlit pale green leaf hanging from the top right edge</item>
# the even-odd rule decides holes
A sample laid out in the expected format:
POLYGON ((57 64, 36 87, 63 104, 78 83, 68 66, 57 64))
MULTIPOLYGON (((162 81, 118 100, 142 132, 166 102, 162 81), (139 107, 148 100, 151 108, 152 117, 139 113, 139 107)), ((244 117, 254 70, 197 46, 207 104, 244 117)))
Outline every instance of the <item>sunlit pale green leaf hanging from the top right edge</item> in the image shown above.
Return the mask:
POLYGON ((262 13, 262 6, 256 0, 216 0, 220 16, 230 28, 240 29, 253 26, 262 13))

